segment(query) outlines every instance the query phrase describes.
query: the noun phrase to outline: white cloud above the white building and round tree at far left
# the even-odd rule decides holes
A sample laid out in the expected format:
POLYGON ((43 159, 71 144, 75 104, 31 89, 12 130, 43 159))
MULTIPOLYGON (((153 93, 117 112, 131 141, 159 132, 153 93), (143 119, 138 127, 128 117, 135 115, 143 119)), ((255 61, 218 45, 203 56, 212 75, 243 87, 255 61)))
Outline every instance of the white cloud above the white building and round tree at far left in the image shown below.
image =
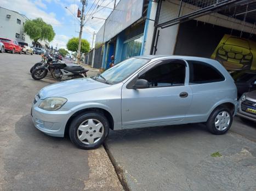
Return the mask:
POLYGON ((29 19, 36 19, 41 17, 45 22, 51 25, 61 25, 61 23, 55 18, 54 13, 46 13, 42 9, 39 9, 35 3, 29 0, 1 0, 1 7, 12 8, 14 11, 25 14, 29 19))

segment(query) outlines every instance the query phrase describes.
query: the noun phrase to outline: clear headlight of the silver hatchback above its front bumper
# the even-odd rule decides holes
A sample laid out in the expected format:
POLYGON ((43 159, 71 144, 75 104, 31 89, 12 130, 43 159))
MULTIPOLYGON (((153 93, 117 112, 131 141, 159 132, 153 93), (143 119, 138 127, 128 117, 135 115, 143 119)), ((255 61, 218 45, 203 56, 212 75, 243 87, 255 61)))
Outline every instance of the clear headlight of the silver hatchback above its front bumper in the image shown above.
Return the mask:
POLYGON ((41 104, 39 104, 39 108, 47 111, 55 111, 60 109, 67 102, 66 98, 52 97, 46 98, 43 100, 41 104))

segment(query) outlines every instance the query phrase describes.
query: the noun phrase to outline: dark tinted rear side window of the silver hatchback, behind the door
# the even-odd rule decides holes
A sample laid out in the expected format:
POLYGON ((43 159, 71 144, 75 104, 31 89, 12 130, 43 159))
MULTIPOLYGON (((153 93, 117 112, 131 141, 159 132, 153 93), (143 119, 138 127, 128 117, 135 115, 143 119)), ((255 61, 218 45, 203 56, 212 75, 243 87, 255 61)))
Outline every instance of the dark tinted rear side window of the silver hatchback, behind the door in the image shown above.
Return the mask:
POLYGON ((225 77, 212 65, 200 61, 187 61, 190 68, 190 84, 224 81, 225 77))

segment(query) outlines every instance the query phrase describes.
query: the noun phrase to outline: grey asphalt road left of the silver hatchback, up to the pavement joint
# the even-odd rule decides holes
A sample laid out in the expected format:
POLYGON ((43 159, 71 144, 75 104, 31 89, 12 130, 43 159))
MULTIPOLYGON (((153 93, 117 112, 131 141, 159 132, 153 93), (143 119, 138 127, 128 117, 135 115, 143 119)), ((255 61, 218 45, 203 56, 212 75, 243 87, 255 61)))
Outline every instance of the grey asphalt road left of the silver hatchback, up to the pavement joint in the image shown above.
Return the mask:
POLYGON ((103 147, 79 150, 67 138, 39 132, 30 116, 38 55, 0 53, 0 190, 122 190, 103 147))

